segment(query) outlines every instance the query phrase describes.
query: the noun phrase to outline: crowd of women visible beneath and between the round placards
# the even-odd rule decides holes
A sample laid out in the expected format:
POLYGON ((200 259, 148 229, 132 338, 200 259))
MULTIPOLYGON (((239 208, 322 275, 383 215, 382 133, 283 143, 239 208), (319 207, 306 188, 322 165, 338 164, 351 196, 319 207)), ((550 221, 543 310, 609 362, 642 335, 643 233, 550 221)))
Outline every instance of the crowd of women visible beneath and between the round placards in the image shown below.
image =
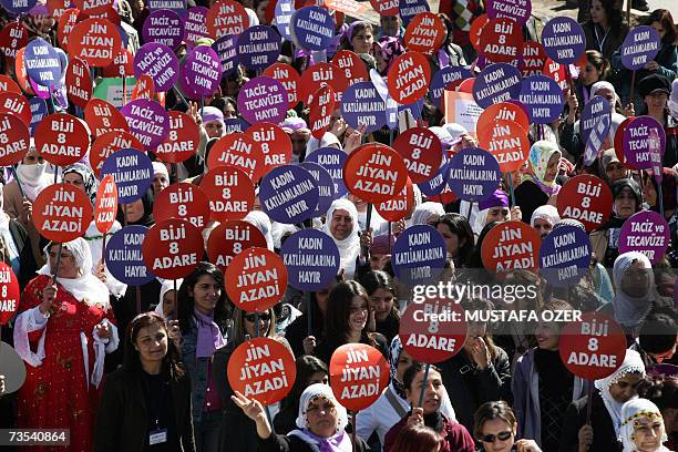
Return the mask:
MULTIPOLYGON (((270 22, 269 0, 242 3, 250 25, 270 22)), ((308 226, 321 229, 339 249, 335 282, 311 294, 289 287, 280 302, 256 316, 228 299, 224 274, 206 257, 176 284, 157 278, 135 288, 117 280, 102 261, 105 240, 94 223, 83 237, 62 246, 47 242, 32 222, 37 196, 60 181, 82 189, 94 203, 100 181, 88 158, 55 168, 31 147, 17 166, 16 177, 8 171, 0 181, 0 256, 21 287, 18 314, 2 329, 2 339, 13 346, 27 370, 18 392, 6 394, 8 382, 0 363, 0 428, 68 429, 70 445, 14 444, 17 450, 675 450, 678 368, 671 364, 678 361, 674 356, 678 312, 672 301, 674 268, 678 266, 678 32, 666 10, 638 19, 657 30, 661 41, 654 61, 634 75, 633 90, 631 76, 620 62, 619 48, 629 30, 620 2, 581 3, 586 3, 579 10, 586 33, 585 62, 575 73, 561 120, 538 133, 543 140, 536 140, 536 129, 530 131, 528 158, 518 172, 505 175, 492 196, 472 205, 460 199, 448 204, 439 197, 427 199, 414 187, 414 205, 398 223, 387 222, 353 195, 333 201, 308 226), (579 119, 583 106, 595 95, 610 101, 615 111, 604 148, 592 165, 585 165, 579 119), (665 127, 661 189, 651 172, 630 171, 615 152, 619 124, 629 115, 641 114, 665 127), (564 183, 581 174, 604 179, 612 189, 613 206, 608 220, 589 234, 594 258, 579 284, 557 289, 538 273, 515 269, 499 280, 483 270, 483 240, 504 222, 522 220, 541 237, 564 225, 582 226, 561 219, 555 207, 564 183), (514 186, 511 202, 508 185, 514 186), (622 226, 641 210, 662 213, 670 226, 670 246, 655 265, 641 253, 619 251, 622 226), (390 261, 393 240, 413 225, 430 225, 443 238, 444 278, 536 288, 533 299, 510 304, 501 298, 470 298, 463 300, 465 309, 607 312, 627 336, 620 367, 602 380, 574 376, 559 358, 561 322, 540 322, 530 331, 520 325, 502 325, 500 330, 496 325, 473 322, 458 355, 425 369, 409 356, 398 336, 411 288, 394 276, 390 261), (310 302, 302 302, 307 296, 310 302), (296 358, 291 390, 285 400, 266 409, 235 391, 226 377, 236 348, 256 336, 281 342, 296 358), (372 346, 390 363, 388 387, 353 420, 328 384, 332 353, 346 343, 372 346)), ((196 4, 189 0, 188 6, 196 4)), ((133 48, 141 39, 148 6, 143 0, 120 0, 114 7, 122 30, 135 37, 129 40, 133 48)), ((477 70, 469 27, 483 8, 475 0, 441 1, 439 17, 446 29, 442 47, 429 58, 433 72, 450 65, 477 70)), ((56 45, 52 10, 41 2, 17 20, 31 39, 43 38, 56 45)), ((2 11, 0 24, 6 27, 10 20, 13 18, 2 11)), ((523 31, 526 40, 537 40, 534 18, 523 31)), ((386 76, 405 51, 403 35, 399 16, 381 17, 379 25, 347 17, 347 23, 337 27, 327 53, 353 51, 367 70, 386 76)), ((177 55, 185 58, 192 45, 182 43, 177 55)), ((314 63, 310 54, 295 51, 288 41, 279 61, 300 73, 314 63)), ((16 76, 7 59, 0 65, 2 73, 16 76)), ((228 120, 239 117, 236 99, 240 86, 255 75, 238 68, 223 79, 204 107, 186 105, 167 93, 166 109, 186 111, 198 124, 199 148, 176 171, 154 162, 152 187, 136 202, 120 205, 111 233, 122 224, 152 227, 154 199, 163 189, 179 181, 199 184, 212 146, 229 133, 228 120)), ((280 124, 292 144, 291 164, 302 163, 320 147, 350 154, 366 141, 392 144, 388 129, 368 136, 350 127, 339 110, 332 113, 328 132, 317 140, 311 136, 308 113, 299 104, 280 124)), ((477 145, 474 131, 445 123, 439 105, 429 100, 421 116, 421 124, 435 133, 448 154, 477 145)), ((260 229, 267 247, 276 253, 298 230, 271 220, 258 198, 245 219, 260 229)), ((212 222, 205 228, 205 242, 216 225, 212 222)))

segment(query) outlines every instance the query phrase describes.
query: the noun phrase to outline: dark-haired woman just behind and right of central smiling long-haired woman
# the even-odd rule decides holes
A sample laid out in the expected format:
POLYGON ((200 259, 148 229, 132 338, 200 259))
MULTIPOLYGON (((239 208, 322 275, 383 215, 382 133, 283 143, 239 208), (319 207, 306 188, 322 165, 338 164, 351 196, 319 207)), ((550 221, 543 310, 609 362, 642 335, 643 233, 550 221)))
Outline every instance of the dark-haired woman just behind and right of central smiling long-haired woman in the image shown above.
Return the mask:
POLYGON ((370 297, 370 308, 374 312, 376 331, 390 342, 400 329, 398 291, 393 280, 386 271, 368 271, 360 277, 360 284, 370 297))

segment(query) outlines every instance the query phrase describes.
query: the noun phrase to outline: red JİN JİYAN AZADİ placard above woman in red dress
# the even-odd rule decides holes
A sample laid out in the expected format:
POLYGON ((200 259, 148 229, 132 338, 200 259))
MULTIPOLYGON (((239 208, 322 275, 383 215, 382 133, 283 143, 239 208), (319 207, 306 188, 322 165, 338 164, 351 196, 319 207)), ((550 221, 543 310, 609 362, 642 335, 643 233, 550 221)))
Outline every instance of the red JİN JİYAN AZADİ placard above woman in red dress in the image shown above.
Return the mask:
POLYGON ((71 242, 81 237, 92 223, 92 201, 72 185, 50 185, 35 198, 32 219, 48 240, 71 242))

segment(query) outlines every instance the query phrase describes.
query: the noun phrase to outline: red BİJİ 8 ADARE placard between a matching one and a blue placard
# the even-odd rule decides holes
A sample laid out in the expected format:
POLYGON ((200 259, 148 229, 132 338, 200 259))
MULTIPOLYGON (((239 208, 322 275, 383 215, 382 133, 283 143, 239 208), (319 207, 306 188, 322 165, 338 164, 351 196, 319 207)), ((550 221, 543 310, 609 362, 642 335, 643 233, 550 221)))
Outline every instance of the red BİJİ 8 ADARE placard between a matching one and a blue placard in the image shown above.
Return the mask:
POLYGON ((201 188, 209 198, 210 218, 215 222, 243 219, 254 206, 254 184, 235 166, 209 170, 201 181, 201 188))

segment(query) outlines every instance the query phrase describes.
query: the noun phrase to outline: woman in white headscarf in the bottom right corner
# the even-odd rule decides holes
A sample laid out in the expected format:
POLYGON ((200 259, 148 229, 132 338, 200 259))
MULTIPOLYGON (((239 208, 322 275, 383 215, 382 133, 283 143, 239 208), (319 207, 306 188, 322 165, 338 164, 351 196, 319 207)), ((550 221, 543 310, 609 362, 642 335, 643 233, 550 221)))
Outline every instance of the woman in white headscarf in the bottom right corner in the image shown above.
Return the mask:
POLYGON ((634 399, 622 407, 623 452, 670 452, 661 411, 647 399, 634 399))

